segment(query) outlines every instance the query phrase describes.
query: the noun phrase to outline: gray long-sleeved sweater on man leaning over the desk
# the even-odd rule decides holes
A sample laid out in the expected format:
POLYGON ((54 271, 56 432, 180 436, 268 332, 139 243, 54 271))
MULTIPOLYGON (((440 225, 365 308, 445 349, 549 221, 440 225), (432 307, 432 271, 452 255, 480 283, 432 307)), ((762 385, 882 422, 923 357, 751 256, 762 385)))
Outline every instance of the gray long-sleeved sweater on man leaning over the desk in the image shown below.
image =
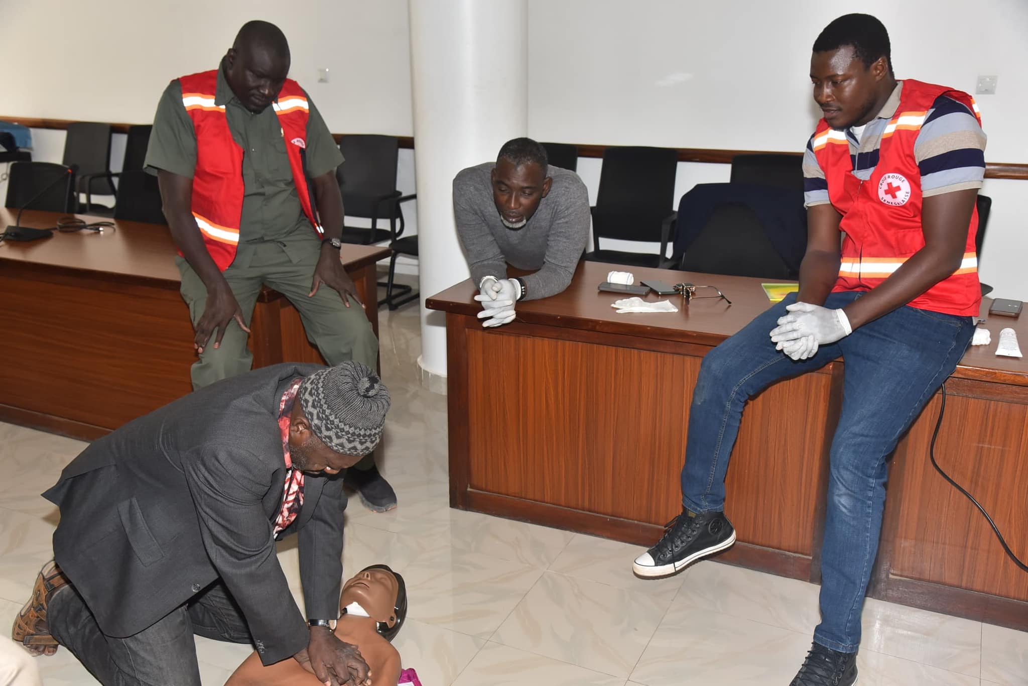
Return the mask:
POLYGON ((555 295, 572 281, 589 237, 589 194, 578 174, 549 167, 550 192, 520 229, 500 221, 489 173, 494 163, 469 167, 453 179, 453 214, 471 277, 507 277, 507 264, 538 269, 524 277, 525 299, 555 295))

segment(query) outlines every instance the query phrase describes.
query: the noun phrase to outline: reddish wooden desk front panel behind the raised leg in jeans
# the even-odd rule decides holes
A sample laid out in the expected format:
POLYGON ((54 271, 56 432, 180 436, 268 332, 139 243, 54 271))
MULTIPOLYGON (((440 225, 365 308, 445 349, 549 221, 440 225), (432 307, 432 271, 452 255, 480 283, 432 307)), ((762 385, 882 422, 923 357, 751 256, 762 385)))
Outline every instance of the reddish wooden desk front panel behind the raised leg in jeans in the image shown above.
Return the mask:
MULTIPOLYGON (((545 506, 536 520, 546 523, 559 516, 554 507, 588 513, 556 523, 608 536, 607 521, 637 522, 645 526, 614 537, 653 543, 682 508, 692 389, 710 348, 542 325, 483 330, 478 320, 454 315, 447 324, 447 335, 461 336, 467 351, 465 369, 450 373, 451 386, 467 378, 472 499, 516 499, 521 516, 533 511, 525 503, 545 506)), ((818 547, 833 374, 830 366, 750 401, 726 482, 739 541, 802 557, 773 566, 802 578, 818 547)), ((451 389, 451 412, 465 402, 460 395, 451 389)))

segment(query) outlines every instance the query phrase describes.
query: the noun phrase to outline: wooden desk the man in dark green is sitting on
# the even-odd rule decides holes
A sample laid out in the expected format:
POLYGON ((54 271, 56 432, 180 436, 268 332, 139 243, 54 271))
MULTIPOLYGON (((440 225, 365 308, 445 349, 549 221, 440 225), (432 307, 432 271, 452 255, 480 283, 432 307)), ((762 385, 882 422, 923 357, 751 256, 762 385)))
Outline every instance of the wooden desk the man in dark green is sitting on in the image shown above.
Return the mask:
MULTIPOLYGON (((15 214, 0 209, 0 226, 15 214)), ((61 216, 25 212, 22 225, 52 227, 61 216)), ((171 233, 158 224, 114 223, 103 233, 0 243, 0 421, 90 440, 192 390, 193 329, 171 233)), ((342 247, 376 335, 375 262, 389 254, 342 247)), ((299 314, 276 291, 261 292, 250 328, 255 368, 324 364, 299 314)))

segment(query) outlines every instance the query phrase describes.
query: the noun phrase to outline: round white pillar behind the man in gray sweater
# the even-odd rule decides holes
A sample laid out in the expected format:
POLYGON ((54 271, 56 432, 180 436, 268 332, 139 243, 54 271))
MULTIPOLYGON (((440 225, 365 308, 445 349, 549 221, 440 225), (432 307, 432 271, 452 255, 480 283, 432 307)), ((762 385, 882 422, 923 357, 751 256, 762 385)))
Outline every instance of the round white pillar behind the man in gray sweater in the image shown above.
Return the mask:
POLYGON ((453 177, 528 129, 526 0, 408 0, 423 380, 446 376, 445 315, 425 298, 468 278, 453 177), (428 373, 426 373, 428 372, 428 373))

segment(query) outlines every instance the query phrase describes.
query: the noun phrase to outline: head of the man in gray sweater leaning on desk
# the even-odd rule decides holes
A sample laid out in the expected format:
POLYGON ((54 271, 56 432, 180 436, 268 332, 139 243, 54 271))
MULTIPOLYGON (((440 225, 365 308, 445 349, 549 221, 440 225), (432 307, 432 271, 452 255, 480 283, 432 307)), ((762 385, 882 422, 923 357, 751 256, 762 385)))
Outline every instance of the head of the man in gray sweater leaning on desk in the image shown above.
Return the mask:
POLYGON ((504 143, 492 169, 492 202, 507 228, 524 227, 550 192, 546 148, 530 138, 504 143))

